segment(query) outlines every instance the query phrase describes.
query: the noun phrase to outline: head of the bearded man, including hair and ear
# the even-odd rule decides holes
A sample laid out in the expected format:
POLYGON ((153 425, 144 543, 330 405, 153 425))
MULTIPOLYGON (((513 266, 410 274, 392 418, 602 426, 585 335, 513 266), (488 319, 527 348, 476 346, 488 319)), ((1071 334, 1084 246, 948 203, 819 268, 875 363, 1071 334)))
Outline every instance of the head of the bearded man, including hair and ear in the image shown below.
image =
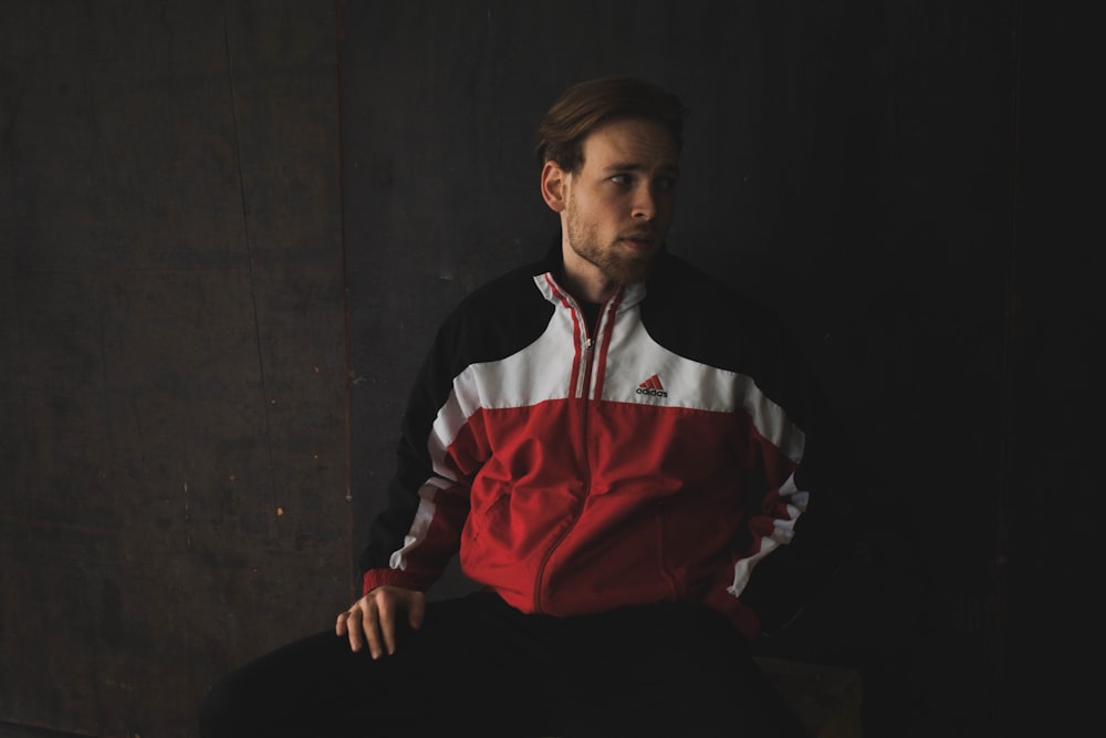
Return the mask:
POLYGON ((627 79, 577 84, 543 118, 542 197, 561 216, 577 299, 648 274, 672 220, 682 121, 675 95, 627 79))

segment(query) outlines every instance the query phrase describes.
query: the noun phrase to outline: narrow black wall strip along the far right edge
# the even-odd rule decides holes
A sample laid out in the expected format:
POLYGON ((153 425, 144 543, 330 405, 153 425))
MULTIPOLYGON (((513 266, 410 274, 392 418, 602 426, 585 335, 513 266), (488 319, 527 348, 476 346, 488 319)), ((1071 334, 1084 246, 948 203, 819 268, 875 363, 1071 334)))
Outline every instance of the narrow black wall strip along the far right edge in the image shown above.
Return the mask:
POLYGON ((1057 735, 1102 705, 1103 60, 1089 10, 1022 4, 997 671, 1006 734, 1057 735))

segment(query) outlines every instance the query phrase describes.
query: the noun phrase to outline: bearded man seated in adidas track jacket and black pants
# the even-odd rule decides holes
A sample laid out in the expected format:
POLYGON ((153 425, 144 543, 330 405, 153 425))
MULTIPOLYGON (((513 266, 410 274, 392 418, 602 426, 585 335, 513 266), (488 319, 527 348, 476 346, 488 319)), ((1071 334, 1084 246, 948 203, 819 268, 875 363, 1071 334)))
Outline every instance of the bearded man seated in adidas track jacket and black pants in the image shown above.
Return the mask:
POLYGON ((666 248, 684 114, 633 79, 552 106, 561 237, 439 330, 364 596, 223 680, 201 735, 801 735, 749 641, 839 550, 818 399, 764 311, 666 248), (481 591, 428 604, 457 552, 481 591))

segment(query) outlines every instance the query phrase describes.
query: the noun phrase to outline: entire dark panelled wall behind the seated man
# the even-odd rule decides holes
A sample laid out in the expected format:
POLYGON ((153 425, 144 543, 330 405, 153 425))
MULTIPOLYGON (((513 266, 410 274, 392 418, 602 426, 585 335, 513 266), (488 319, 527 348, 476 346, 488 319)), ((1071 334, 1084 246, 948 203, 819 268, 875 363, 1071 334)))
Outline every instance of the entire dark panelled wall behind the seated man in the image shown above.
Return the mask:
POLYGON ((1078 725, 1088 28, 984 0, 0 0, 0 723, 191 736, 216 676, 333 622, 438 321, 555 232, 538 117, 632 73, 691 112, 671 248, 780 312, 874 492, 763 647, 859 668, 870 736, 1078 725))

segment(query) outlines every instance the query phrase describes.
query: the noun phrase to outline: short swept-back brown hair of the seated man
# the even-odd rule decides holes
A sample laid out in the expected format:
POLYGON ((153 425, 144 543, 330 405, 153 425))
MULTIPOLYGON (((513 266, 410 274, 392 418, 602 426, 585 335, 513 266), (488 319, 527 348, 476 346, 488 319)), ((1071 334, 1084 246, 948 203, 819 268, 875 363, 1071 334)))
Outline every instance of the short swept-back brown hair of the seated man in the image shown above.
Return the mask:
POLYGON ((598 125, 615 118, 659 123, 672 134, 678 152, 684 145, 686 114, 679 97, 651 82, 618 76, 580 82, 539 122, 534 147, 538 166, 553 160, 565 171, 576 171, 584 162, 584 139, 598 125))

